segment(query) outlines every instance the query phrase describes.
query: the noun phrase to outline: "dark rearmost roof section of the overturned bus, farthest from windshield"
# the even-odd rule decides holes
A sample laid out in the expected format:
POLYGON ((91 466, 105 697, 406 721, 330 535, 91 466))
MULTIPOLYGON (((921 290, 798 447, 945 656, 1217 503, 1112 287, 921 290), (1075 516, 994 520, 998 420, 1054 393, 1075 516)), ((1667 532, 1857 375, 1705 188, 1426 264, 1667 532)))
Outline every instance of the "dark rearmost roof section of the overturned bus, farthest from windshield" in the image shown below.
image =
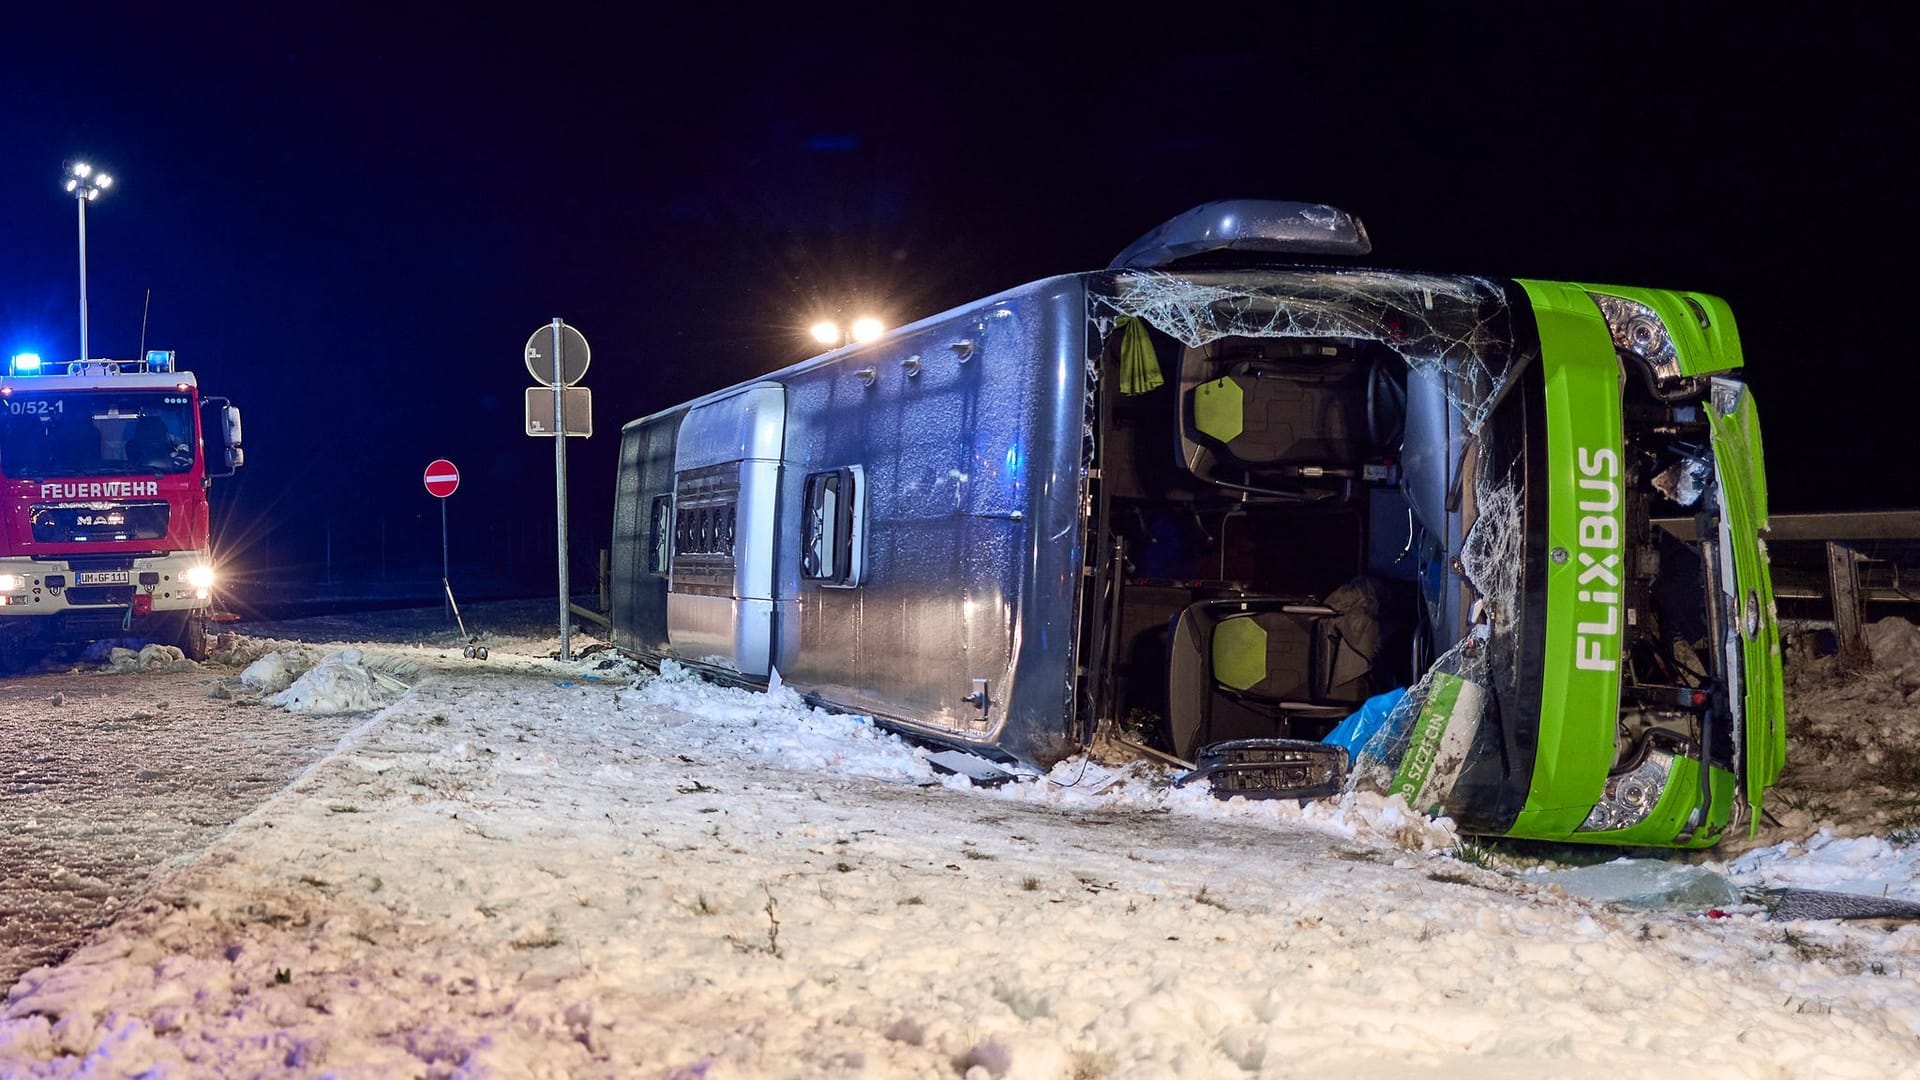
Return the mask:
POLYGON ((612 640, 639 653, 666 651, 666 559, 672 542, 674 432, 682 411, 626 425, 612 502, 612 640), (666 500, 655 521, 655 500, 666 500), (657 536, 655 528, 666 528, 657 536), (655 546, 659 559, 653 557, 655 546))

